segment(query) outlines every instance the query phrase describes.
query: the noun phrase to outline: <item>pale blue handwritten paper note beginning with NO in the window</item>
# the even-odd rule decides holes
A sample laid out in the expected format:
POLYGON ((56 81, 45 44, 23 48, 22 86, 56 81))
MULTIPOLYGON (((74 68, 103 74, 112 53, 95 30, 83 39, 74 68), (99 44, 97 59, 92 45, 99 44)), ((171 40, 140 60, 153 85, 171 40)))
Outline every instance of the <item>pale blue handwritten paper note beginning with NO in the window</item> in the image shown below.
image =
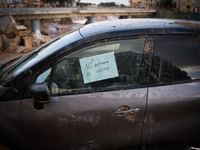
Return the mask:
POLYGON ((79 59, 84 83, 118 77, 114 52, 79 59))

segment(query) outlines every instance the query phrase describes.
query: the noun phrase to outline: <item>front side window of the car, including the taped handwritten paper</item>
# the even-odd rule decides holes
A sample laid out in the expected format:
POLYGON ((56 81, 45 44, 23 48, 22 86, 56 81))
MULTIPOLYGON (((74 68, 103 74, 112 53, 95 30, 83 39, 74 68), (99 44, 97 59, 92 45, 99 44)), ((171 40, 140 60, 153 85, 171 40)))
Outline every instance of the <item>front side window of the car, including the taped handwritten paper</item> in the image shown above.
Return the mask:
POLYGON ((136 86, 145 39, 97 42, 57 62, 57 93, 83 93, 136 86))

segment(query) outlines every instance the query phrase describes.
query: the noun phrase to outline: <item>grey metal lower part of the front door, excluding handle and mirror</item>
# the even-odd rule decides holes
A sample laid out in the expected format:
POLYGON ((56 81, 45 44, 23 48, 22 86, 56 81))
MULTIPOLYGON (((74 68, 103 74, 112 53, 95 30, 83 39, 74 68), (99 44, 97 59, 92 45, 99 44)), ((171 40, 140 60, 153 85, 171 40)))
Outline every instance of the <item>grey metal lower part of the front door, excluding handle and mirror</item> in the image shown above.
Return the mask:
POLYGON ((28 148, 108 149, 140 145, 146 98, 147 88, 56 96, 39 111, 34 109, 32 99, 24 99, 20 110, 28 148), (125 116, 112 114, 123 105, 139 111, 125 116))

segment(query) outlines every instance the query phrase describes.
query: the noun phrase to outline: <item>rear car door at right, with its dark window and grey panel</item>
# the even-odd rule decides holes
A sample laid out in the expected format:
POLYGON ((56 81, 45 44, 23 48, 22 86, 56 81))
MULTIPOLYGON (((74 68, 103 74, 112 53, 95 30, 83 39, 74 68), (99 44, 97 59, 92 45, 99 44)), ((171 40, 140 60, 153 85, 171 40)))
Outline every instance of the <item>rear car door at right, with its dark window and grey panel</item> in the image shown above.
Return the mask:
POLYGON ((143 132, 146 148, 199 147, 199 47, 195 36, 157 38, 143 132))

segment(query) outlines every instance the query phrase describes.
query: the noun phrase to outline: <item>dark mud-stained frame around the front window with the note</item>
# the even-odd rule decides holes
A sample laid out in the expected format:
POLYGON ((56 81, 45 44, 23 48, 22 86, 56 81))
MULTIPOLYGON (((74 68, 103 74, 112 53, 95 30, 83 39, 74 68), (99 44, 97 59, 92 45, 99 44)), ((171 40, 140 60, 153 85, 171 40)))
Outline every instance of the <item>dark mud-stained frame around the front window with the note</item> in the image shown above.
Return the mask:
MULTIPOLYGON (((150 74, 150 68, 151 68, 151 61, 152 61, 152 55, 153 55, 153 47, 149 47, 149 45, 154 46, 154 36, 149 36, 149 35, 138 35, 138 36, 126 36, 126 37, 113 37, 113 38, 105 38, 103 40, 98 40, 98 41, 92 41, 92 42, 87 42, 83 45, 77 46, 72 48, 71 50, 66 50, 68 47, 65 47, 61 52, 60 55, 48 59, 48 63, 46 63, 43 67, 39 68, 37 65, 37 69, 34 69, 34 72, 44 70, 44 68, 52 68, 51 73, 50 73, 50 79, 49 79, 49 84, 47 85, 49 87, 49 90, 51 90, 51 85, 52 85, 52 80, 53 80, 53 75, 56 71, 56 65, 57 62, 63 58, 64 56, 67 56, 75 51, 81 50, 82 48, 94 45, 95 43, 105 43, 109 41, 117 41, 117 40, 128 40, 128 39, 142 39, 145 38, 145 44, 144 44, 144 49, 143 49, 143 54, 142 54, 142 59, 141 59, 141 65, 148 65, 144 69, 140 67, 139 73, 138 73, 138 83, 135 86, 128 86, 128 87, 114 87, 114 88, 108 88, 108 89, 99 89, 99 90, 89 90, 89 91, 81 91, 81 92, 71 92, 71 93, 64 93, 64 94, 50 94, 50 96, 55 97, 55 96, 63 96, 63 95, 75 95, 75 94, 86 94, 86 93, 96 93, 96 92, 106 92, 106 91, 116 91, 116 90, 127 90, 127 89, 135 89, 135 88, 144 88, 148 87, 148 82, 149 82, 149 74, 150 74), (145 64, 144 64, 145 63, 145 64), (145 83, 146 84, 145 84, 145 83)), ((33 74, 32 74, 33 75, 33 74)), ((27 86, 29 86, 30 81, 27 81, 27 86)), ((28 89, 29 87, 27 87, 28 89)), ((27 93, 27 92, 26 92, 27 93)))

